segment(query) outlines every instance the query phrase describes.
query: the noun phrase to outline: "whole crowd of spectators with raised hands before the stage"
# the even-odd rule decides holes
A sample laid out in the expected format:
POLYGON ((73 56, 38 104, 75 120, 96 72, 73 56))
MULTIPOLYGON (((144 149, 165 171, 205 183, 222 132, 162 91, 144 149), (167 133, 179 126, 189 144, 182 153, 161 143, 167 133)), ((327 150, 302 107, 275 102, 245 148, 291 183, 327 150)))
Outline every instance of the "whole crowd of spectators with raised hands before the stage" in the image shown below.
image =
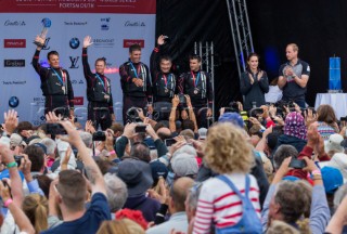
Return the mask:
MULTIPOLYGON (((198 128, 137 108, 131 123, 20 121, 0 139, 1 233, 343 233, 346 122, 329 105, 220 109, 198 128)), ((240 106, 242 108, 242 105, 240 106)))

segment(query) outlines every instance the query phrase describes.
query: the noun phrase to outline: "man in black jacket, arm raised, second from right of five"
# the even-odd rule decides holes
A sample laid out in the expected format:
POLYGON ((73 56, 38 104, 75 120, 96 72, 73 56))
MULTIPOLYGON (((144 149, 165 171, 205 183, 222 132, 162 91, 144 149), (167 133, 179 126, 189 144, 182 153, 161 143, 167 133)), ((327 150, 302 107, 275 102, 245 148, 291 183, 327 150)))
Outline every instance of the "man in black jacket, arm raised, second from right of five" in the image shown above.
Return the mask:
POLYGON ((168 120, 171 110, 171 100, 176 93, 176 76, 171 73, 172 61, 169 55, 162 55, 165 36, 159 36, 157 47, 151 54, 151 75, 153 79, 154 110, 159 113, 157 120, 168 120))

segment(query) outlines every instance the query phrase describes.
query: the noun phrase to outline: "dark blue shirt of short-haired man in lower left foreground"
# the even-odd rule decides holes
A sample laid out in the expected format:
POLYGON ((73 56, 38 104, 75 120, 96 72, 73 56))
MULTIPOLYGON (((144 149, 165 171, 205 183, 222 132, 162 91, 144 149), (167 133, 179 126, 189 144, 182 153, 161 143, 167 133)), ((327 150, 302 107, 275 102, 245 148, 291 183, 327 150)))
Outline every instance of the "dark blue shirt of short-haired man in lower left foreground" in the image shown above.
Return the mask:
POLYGON ((74 234, 94 234, 98 232, 102 221, 111 220, 110 207, 106 196, 102 193, 95 193, 92 196, 90 207, 86 213, 74 221, 63 222, 54 229, 41 232, 46 233, 74 233, 74 234))

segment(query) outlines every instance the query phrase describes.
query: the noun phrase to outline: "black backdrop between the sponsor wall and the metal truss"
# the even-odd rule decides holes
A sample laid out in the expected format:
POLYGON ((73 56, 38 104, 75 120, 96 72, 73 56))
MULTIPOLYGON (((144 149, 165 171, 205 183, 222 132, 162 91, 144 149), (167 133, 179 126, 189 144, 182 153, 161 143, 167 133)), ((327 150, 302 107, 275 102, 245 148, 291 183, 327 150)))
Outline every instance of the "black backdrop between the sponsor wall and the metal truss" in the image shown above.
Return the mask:
MULTIPOLYGON (((241 100, 226 1, 158 0, 156 38, 170 38, 169 53, 179 72, 189 70, 194 41, 215 44, 215 104, 219 108, 241 100)), ((217 109, 216 108, 216 109, 217 109)))

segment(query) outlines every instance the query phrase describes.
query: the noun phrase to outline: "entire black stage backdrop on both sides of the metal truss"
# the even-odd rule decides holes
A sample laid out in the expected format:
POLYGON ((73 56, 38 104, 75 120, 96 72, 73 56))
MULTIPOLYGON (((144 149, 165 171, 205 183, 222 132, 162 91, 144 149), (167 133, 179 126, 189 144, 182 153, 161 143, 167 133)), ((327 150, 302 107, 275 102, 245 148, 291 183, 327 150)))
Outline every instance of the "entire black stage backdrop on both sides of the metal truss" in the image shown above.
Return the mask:
MULTIPOLYGON (((330 56, 342 57, 342 83, 347 88, 347 1, 247 0, 247 8, 254 48, 270 80, 286 61, 285 46, 294 42, 299 47, 299 57, 311 67, 307 92, 310 105, 318 92, 329 88, 330 56)), ((224 0, 157 0, 156 37, 162 34, 170 37, 170 54, 181 72, 189 69, 194 41, 214 41, 216 107, 241 100, 224 0)))

